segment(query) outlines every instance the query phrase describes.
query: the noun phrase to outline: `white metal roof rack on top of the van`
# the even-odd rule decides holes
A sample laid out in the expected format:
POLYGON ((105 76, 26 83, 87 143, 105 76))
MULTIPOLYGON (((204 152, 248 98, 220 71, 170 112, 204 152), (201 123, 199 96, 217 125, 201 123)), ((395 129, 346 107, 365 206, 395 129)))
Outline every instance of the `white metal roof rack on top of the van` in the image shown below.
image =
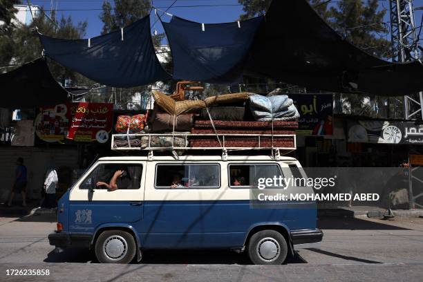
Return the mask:
POLYGON ((227 151, 272 150, 276 157, 281 156, 280 151, 285 155, 296 150, 297 139, 294 134, 124 133, 112 135, 111 149, 121 152, 222 150, 223 158, 227 151))

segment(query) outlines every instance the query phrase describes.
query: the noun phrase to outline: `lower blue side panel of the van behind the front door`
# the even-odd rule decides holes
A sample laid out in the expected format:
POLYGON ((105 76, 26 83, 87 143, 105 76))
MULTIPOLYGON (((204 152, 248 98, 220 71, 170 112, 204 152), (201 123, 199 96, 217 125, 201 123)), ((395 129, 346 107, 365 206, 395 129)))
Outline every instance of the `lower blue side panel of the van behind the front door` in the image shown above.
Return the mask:
POLYGON ((314 229, 315 203, 253 209, 250 200, 145 201, 138 232, 144 248, 243 247, 259 225, 314 229))

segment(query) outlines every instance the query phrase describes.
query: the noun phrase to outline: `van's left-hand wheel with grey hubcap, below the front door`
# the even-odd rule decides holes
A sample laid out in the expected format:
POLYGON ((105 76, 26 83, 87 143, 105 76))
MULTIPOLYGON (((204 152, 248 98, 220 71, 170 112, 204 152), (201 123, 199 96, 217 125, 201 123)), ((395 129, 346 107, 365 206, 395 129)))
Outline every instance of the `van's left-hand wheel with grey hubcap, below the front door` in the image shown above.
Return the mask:
POLYGON ((130 263, 136 250, 133 236, 123 230, 106 230, 95 241, 95 256, 100 263, 130 263))

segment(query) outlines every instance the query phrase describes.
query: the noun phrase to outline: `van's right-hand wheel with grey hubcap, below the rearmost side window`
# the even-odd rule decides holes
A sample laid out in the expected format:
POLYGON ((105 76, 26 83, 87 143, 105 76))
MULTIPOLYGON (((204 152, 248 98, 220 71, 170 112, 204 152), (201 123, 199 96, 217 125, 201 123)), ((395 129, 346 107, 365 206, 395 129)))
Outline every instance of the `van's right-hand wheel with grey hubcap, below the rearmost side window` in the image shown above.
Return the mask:
POLYGON ((248 256, 255 265, 281 265, 287 255, 286 240, 275 230, 257 232, 248 243, 248 256))

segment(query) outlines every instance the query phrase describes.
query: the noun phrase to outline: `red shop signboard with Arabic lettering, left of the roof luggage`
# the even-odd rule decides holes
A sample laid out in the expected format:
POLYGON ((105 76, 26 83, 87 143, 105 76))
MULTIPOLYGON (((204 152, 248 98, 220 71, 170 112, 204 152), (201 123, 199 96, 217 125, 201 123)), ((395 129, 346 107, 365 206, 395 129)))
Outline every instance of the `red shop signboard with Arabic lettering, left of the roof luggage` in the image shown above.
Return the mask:
POLYGON ((113 123, 113 104, 67 103, 41 109, 35 124, 46 142, 105 143, 113 123))

